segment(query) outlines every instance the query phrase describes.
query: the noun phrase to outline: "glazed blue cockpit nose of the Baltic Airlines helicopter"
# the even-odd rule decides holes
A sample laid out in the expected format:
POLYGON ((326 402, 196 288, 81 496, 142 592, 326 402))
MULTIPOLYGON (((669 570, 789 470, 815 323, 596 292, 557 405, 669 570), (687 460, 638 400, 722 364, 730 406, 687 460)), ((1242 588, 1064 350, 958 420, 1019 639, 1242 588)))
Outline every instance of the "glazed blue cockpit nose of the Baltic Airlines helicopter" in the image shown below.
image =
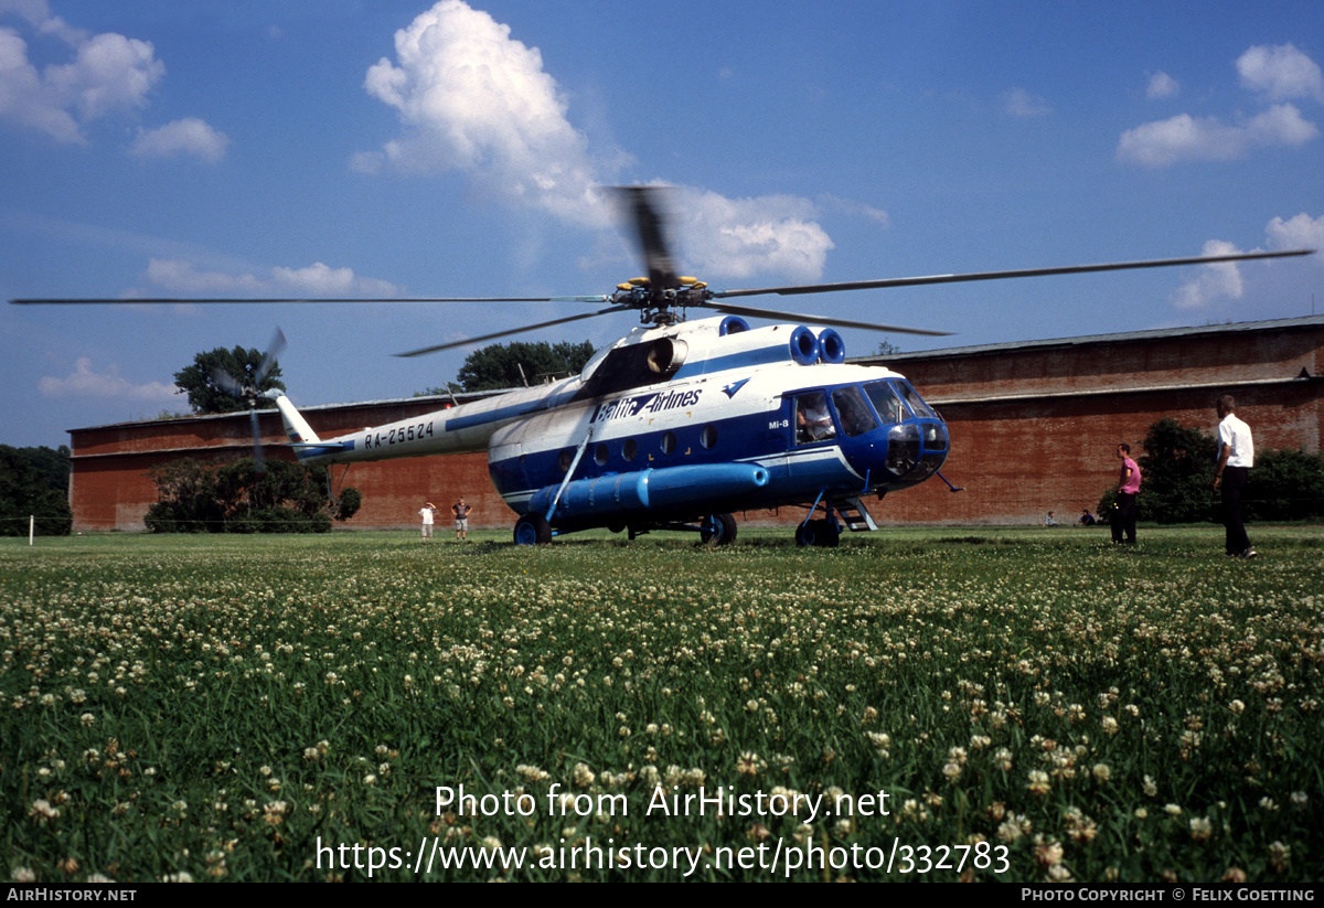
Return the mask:
POLYGON ((947 425, 902 379, 802 390, 792 406, 793 447, 839 445, 871 488, 920 483, 947 459, 947 425))

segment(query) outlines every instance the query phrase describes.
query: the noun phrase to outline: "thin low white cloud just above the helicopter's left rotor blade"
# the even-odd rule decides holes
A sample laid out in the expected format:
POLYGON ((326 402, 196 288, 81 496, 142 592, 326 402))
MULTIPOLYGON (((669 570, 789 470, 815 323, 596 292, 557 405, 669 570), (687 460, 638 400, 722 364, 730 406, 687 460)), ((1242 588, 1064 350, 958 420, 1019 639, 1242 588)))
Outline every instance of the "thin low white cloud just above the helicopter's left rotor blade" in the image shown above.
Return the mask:
POLYGON ((273 267, 266 277, 200 271, 192 262, 154 258, 146 273, 151 290, 135 293, 148 296, 158 293, 191 296, 399 296, 400 287, 375 278, 360 278, 352 269, 334 269, 322 262, 307 267, 273 267))

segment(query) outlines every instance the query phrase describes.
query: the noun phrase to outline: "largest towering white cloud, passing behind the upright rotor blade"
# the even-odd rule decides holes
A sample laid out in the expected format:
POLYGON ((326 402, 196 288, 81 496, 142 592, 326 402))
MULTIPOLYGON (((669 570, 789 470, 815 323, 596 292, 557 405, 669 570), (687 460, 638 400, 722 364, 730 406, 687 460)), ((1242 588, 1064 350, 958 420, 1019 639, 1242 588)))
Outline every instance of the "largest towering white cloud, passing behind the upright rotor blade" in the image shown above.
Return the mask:
MULTIPOLYGON (((380 151, 354 155, 350 168, 375 173, 458 171, 485 195, 563 224, 616 230, 602 191, 628 156, 592 150, 567 118, 568 102, 536 48, 510 26, 461 0, 442 0, 396 32, 396 61, 368 70, 368 94, 400 113, 404 130, 380 151)), ((775 271, 822 274, 833 248, 806 199, 731 200, 682 187, 678 230, 706 278, 775 271)), ((882 214, 879 212, 879 214, 882 214)))

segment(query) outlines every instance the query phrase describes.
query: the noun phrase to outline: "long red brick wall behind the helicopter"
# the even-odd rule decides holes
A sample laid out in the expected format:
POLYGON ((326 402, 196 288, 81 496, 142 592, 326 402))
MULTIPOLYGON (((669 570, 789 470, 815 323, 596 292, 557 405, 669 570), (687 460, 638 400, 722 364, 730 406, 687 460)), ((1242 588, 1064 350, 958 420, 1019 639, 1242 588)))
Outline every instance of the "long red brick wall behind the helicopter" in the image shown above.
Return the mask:
MULTIPOLYGON (((1312 319, 1290 328, 1229 326, 887 359, 883 364, 906 375, 947 420, 951 455, 943 474, 965 491, 953 495, 931 479, 866 504, 880 524, 1038 524, 1050 508, 1062 523, 1072 523, 1115 483, 1119 442, 1141 454, 1140 439, 1164 416, 1211 429, 1213 401, 1221 393, 1237 396, 1238 416, 1250 424, 1260 450, 1319 451, 1324 381, 1295 376, 1303 369, 1317 376, 1321 351, 1324 319, 1312 319)), ((326 437, 445 404, 384 401, 314 408, 305 416, 326 437)), ((289 449, 277 447, 285 442, 278 414, 261 414, 260 428, 273 445, 267 457, 293 459, 289 449)), ((147 478, 156 463, 249 453, 246 413, 79 429, 71 435, 75 529, 142 529, 156 499, 147 478)), ((334 471, 338 486, 343 473, 334 471)), ((487 478, 485 454, 360 463, 350 467, 344 483, 364 496, 348 527, 416 528, 418 508, 432 500, 441 508, 440 529, 449 529, 449 507, 459 495, 474 506, 474 528, 510 528, 515 522, 487 478)), ((802 515, 781 508, 736 516, 749 524, 785 524, 802 515)))

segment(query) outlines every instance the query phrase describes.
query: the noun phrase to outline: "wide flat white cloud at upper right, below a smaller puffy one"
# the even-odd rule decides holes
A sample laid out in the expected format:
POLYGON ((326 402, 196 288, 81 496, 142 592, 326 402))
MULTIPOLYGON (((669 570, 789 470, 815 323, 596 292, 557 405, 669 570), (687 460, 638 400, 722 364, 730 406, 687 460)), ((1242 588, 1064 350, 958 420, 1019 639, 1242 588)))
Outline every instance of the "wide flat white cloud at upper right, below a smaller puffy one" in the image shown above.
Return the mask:
POLYGON ((1121 134, 1117 160, 1165 167, 1184 160, 1235 160, 1254 148, 1295 147, 1319 135, 1292 105, 1275 105, 1239 126, 1178 114, 1121 134))

